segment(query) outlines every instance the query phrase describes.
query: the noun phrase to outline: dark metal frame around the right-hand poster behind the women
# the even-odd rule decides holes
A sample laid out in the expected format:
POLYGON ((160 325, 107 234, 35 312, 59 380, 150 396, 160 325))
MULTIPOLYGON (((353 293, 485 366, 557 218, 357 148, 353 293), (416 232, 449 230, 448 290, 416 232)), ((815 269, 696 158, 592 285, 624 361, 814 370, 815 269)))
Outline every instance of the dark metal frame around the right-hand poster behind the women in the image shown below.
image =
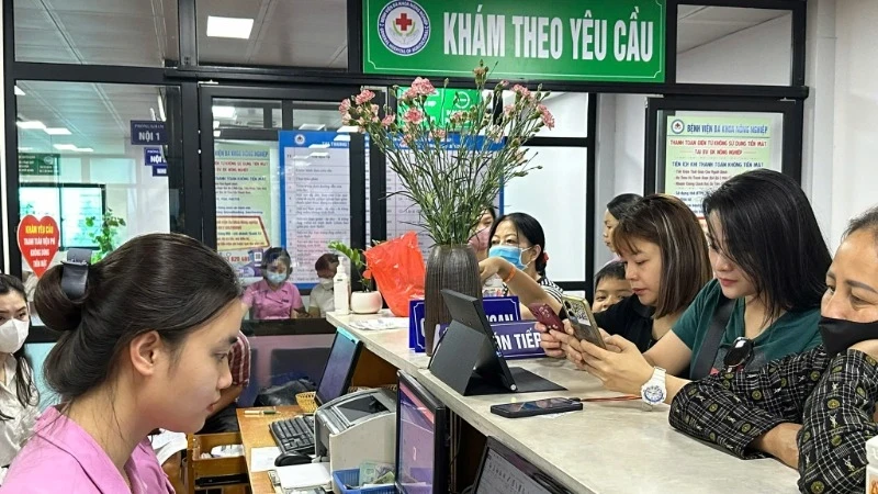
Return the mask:
POLYGON ((804 103, 796 100, 705 100, 686 98, 649 98, 646 100, 646 143, 643 157, 644 193, 663 192, 663 177, 660 173, 658 159, 663 153, 663 143, 658 143, 660 111, 701 111, 701 112, 739 112, 739 113, 780 113, 784 115, 784 133, 781 135, 783 155, 781 172, 801 183, 802 166, 802 108, 804 103), (798 143, 798 144, 796 144, 798 143))

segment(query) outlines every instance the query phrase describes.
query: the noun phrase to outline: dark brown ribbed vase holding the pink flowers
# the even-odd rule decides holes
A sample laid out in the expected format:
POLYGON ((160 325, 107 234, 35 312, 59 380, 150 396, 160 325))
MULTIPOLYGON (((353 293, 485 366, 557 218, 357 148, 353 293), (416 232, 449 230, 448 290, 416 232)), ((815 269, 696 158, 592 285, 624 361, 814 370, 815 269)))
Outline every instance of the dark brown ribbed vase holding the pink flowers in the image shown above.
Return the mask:
POLYGON ((428 356, 432 356, 438 326, 451 323, 442 290, 482 297, 479 261, 469 245, 438 245, 427 258, 427 282, 424 288, 424 337, 428 356))

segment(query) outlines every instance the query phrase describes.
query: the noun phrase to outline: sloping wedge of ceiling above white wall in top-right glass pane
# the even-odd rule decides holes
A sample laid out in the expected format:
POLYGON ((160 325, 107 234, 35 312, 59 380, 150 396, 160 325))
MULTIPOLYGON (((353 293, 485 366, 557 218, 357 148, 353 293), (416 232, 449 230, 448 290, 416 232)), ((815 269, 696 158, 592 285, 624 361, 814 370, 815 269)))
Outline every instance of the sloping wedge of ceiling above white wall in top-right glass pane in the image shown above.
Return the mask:
POLYGON ((677 53, 688 52, 739 31, 789 14, 787 10, 679 5, 677 11, 677 53))

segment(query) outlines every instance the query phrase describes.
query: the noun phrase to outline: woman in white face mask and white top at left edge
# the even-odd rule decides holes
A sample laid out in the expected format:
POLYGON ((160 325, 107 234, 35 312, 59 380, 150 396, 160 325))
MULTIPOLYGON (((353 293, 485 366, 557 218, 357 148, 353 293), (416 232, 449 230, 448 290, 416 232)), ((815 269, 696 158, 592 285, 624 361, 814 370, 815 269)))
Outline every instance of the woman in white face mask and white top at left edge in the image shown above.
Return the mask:
POLYGON ((31 437, 36 422, 40 398, 33 369, 24 353, 30 326, 24 285, 16 278, 0 274, 0 467, 3 469, 31 437))

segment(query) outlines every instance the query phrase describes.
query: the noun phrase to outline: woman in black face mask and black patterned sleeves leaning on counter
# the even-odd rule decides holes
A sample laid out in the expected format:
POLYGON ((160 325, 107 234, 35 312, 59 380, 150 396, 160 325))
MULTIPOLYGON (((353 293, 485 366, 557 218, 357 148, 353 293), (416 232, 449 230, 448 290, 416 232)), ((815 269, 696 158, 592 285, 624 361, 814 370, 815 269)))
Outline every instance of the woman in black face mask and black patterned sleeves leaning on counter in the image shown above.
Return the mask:
POLYGON ((826 272, 822 345, 687 384, 671 425, 740 458, 799 469, 803 493, 862 493, 878 435, 878 209, 851 222, 826 272), (719 418, 722 417, 722 418, 719 418))

